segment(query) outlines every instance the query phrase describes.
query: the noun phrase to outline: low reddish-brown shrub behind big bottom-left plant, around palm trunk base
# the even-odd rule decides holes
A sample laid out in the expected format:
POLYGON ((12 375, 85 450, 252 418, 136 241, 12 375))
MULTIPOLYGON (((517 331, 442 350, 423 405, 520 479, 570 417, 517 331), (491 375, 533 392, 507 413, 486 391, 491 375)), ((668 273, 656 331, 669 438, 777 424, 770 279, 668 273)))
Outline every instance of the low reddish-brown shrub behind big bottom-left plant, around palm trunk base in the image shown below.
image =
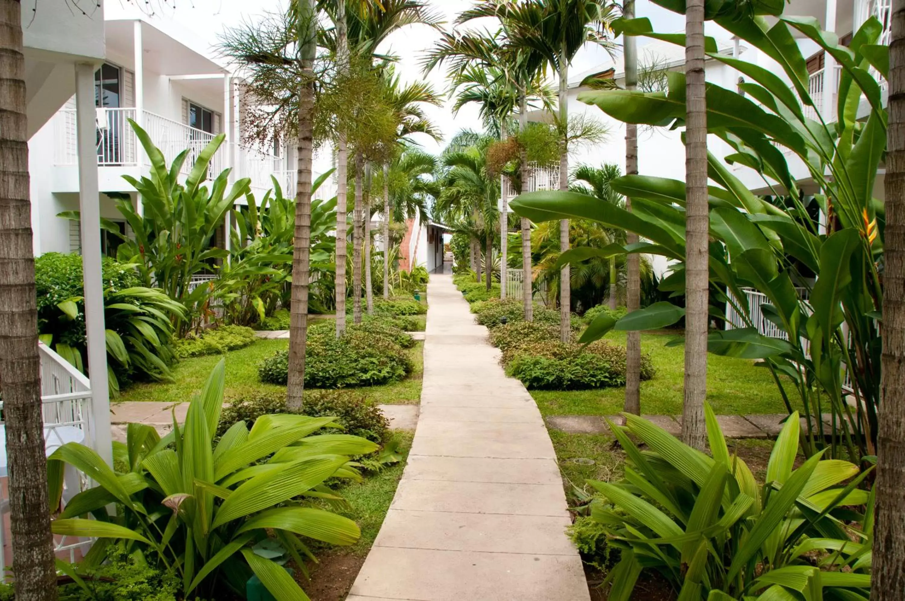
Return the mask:
MULTIPOLYGON (((239 398, 224 407, 217 434, 222 436, 236 422, 245 422, 251 427, 261 415, 281 413, 286 413, 286 395, 283 393, 267 392, 239 398)), ((301 414, 311 417, 332 415, 336 417, 334 423, 341 425, 346 434, 375 443, 383 442, 389 431, 389 420, 376 403, 351 390, 306 390, 301 414)), ((335 433, 335 429, 329 432, 335 433)), ((320 434, 328 432, 320 431, 320 434)))

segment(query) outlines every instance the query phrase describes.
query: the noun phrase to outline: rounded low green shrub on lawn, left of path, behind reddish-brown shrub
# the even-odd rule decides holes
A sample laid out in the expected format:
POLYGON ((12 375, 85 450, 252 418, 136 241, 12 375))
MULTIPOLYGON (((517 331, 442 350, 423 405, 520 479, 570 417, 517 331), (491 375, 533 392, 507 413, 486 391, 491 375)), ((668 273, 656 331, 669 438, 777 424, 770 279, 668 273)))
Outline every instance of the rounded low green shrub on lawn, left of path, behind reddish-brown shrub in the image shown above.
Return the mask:
MULTIPOLYGON (((281 350, 262 361, 262 382, 285 385, 289 351, 281 350)), ((412 362, 392 339, 349 328, 337 339, 332 332, 315 333, 305 349, 305 386, 347 388, 377 386, 401 380, 412 371, 412 362)))

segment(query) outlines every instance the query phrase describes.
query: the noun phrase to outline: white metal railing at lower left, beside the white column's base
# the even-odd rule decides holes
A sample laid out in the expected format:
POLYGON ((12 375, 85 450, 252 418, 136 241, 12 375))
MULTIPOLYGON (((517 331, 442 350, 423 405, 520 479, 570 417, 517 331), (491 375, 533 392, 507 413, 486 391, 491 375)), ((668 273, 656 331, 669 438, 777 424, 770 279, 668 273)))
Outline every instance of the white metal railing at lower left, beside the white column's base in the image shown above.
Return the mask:
MULTIPOLYGON (((38 344, 41 358, 41 408, 44 424, 44 440, 47 454, 62 444, 77 442, 90 446, 93 440, 94 422, 91 419, 90 381, 78 369, 60 357, 51 348, 38 344)), ((6 466, 3 466, 5 480, 6 466)), ((89 479, 67 465, 63 474, 62 502, 70 501, 78 492, 89 487, 89 479)), ((0 581, 5 581, 5 567, 12 564, 9 546, 9 491, 3 482, 3 498, 0 500, 0 581)), ((92 540, 82 537, 54 535, 54 552, 58 558, 74 562, 81 558, 92 540)))

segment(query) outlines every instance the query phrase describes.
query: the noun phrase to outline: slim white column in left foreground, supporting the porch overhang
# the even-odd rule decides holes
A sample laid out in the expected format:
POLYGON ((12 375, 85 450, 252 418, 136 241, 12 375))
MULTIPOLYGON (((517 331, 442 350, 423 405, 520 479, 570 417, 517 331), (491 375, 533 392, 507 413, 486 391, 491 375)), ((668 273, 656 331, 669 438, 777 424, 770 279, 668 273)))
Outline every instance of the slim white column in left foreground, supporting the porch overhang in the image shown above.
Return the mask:
POLYGON ((100 270, 100 189, 94 113, 94 65, 75 66, 76 136, 79 153, 81 261, 85 294, 85 332, 91 380, 91 444, 113 465, 110 442, 110 391, 107 383, 107 343, 104 334, 104 290, 100 270))

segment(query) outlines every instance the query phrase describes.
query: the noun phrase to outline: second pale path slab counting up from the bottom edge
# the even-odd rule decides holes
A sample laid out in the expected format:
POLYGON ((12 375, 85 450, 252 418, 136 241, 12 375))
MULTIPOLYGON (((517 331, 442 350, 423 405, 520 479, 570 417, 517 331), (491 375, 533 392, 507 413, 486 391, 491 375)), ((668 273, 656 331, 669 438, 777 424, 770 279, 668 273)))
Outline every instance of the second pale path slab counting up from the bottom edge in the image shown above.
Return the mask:
POLYGON ((380 529, 374 544, 405 549, 572 555, 575 547, 571 541, 559 536, 571 523, 567 517, 391 509, 384 519, 386 528, 380 529))

